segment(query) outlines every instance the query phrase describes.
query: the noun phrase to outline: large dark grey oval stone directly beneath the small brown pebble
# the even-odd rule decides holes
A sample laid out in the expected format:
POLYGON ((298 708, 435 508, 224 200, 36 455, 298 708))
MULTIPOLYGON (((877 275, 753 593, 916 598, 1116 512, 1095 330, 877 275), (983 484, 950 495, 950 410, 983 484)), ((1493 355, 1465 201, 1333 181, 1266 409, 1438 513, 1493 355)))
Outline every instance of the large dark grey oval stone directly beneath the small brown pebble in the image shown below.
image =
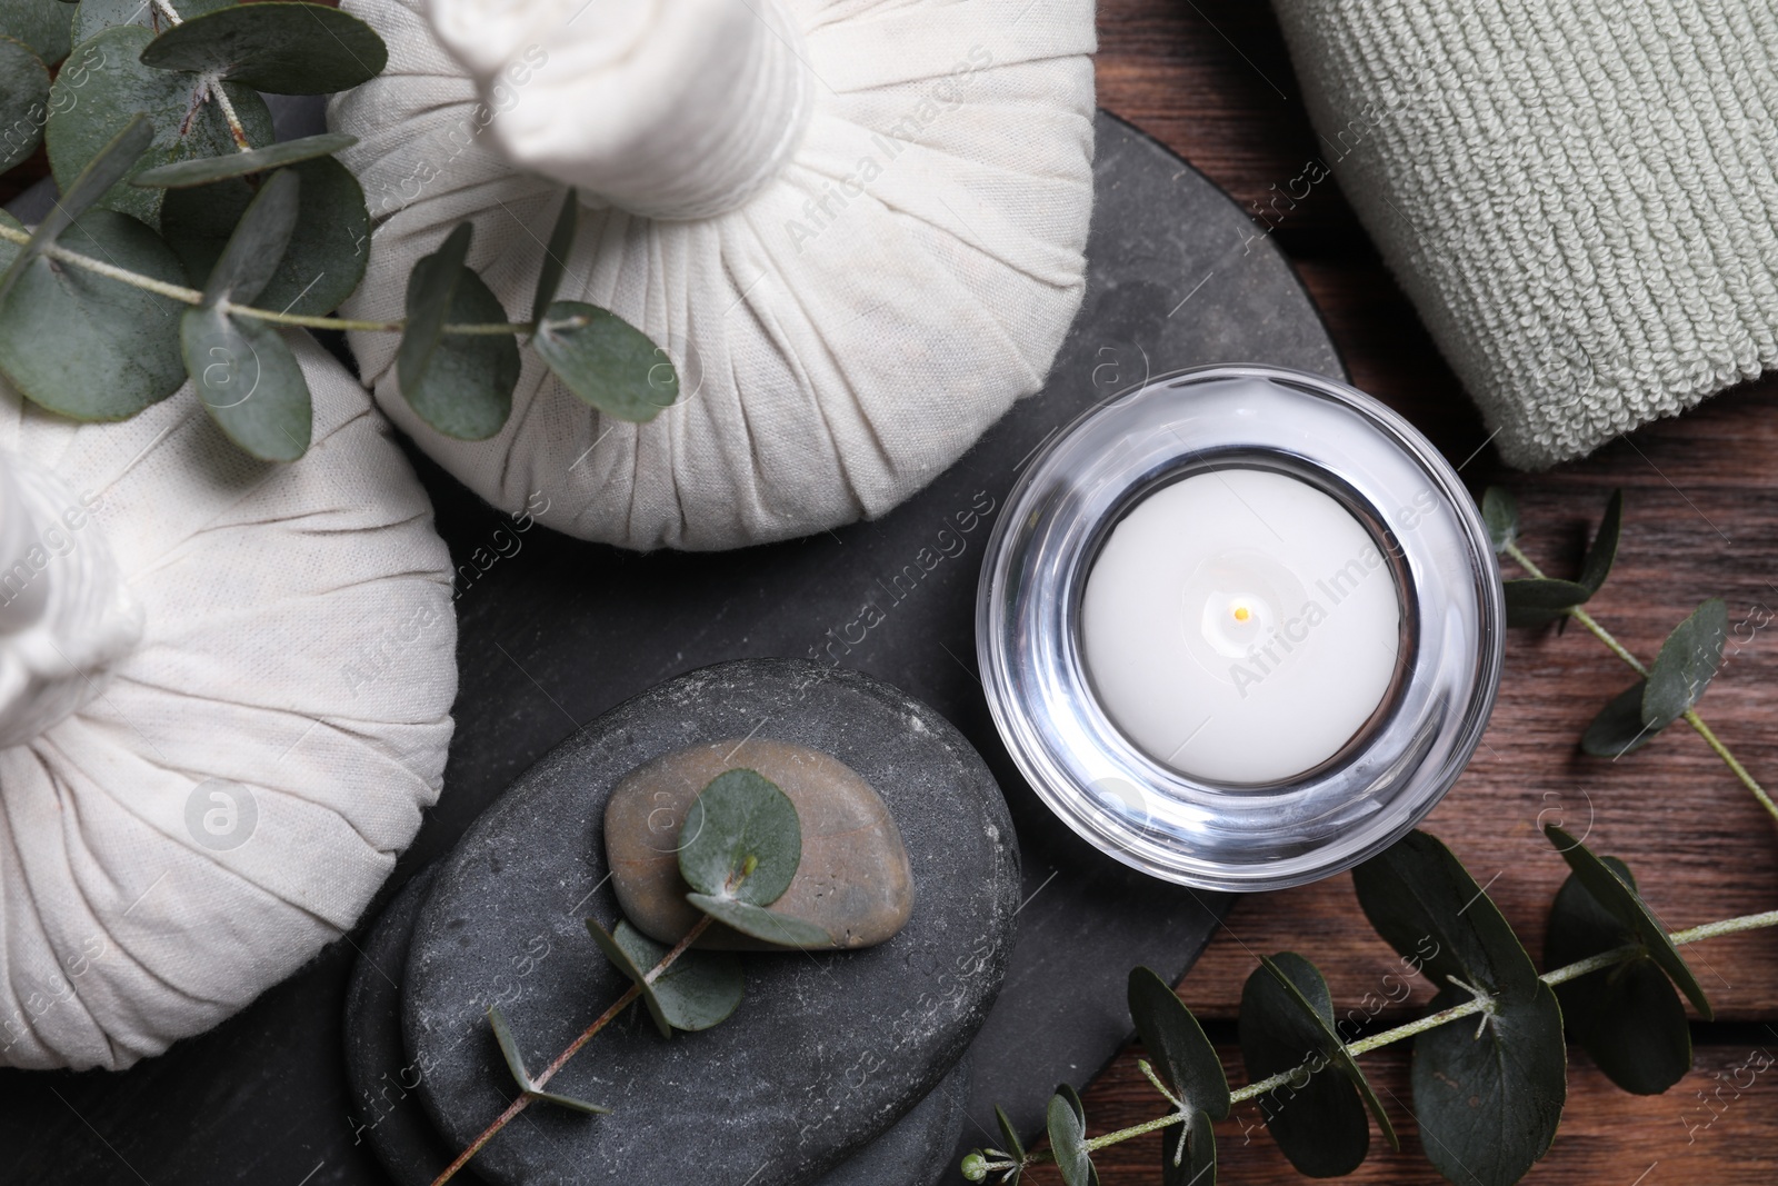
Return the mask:
POLYGON ((439 869, 407 957, 402 1022, 418 1094, 464 1145, 512 1097, 485 1010, 533 1072, 628 982, 585 934, 617 919, 605 802, 638 765, 717 738, 832 754, 882 795, 919 907, 889 942, 750 953, 724 1024, 661 1038, 628 1015, 549 1081, 613 1108, 530 1108, 477 1158, 500 1186, 800 1186, 887 1131, 962 1058, 999 992, 1019 905, 1012 820, 992 775, 935 711, 857 672, 741 660, 658 685, 525 773, 439 869))

